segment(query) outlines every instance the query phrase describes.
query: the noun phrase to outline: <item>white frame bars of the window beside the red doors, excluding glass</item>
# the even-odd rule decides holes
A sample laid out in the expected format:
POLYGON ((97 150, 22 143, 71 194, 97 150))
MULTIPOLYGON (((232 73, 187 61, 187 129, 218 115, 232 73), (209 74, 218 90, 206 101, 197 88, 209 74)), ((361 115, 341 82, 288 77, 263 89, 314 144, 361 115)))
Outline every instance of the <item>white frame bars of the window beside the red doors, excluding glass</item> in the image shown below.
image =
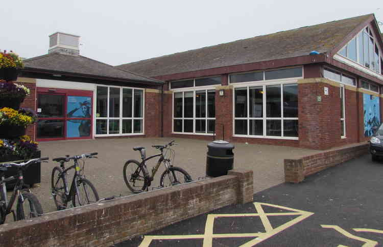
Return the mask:
POLYGON ((126 135, 145 135, 145 89, 142 88, 131 88, 131 87, 118 87, 118 86, 111 86, 111 85, 102 85, 102 84, 97 84, 95 85, 95 90, 94 90, 94 131, 93 131, 93 136, 95 137, 103 137, 103 136, 126 136, 126 135), (107 117, 97 117, 97 87, 107 87, 108 88, 108 98, 107 98, 107 117), (110 88, 118 88, 119 89, 119 117, 109 117, 109 97, 110 97, 110 88), (132 117, 131 118, 126 118, 122 117, 123 115, 123 89, 132 89, 132 117), (142 91, 142 117, 137 118, 134 117, 134 91, 135 90, 140 90, 142 91), (97 131, 97 120, 106 120, 106 128, 107 128, 107 134, 96 134, 97 131), (119 120, 119 133, 113 133, 113 134, 108 134, 109 133, 109 120, 119 120), (132 133, 122 133, 123 128, 123 120, 132 120, 132 133), (142 121, 142 132, 140 133, 134 133, 134 120, 141 120, 142 121))

